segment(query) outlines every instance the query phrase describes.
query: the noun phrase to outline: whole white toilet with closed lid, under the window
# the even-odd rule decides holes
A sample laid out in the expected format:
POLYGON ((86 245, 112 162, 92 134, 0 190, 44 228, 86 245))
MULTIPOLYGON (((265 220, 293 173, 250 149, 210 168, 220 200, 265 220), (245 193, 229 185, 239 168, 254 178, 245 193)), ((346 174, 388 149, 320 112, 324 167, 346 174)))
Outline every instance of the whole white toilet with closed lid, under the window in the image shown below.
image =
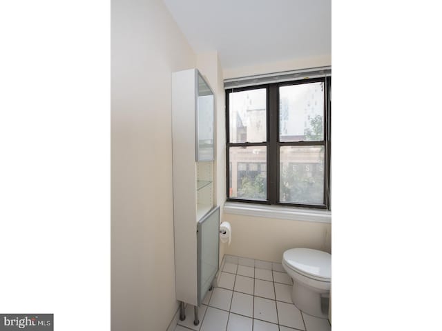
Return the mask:
POLYGON ((328 317, 330 283, 332 281, 332 255, 309 248, 286 250, 282 267, 293 279, 291 301, 314 317, 328 317))

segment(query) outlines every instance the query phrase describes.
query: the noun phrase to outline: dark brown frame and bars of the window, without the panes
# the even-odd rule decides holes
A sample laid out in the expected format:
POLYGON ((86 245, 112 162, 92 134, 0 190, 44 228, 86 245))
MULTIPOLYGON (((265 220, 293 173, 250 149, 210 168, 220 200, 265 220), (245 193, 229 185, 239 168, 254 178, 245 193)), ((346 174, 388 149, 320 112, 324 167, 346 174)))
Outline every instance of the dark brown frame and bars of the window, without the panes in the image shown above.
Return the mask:
POLYGON ((332 101, 331 101, 332 77, 320 77, 314 79, 302 79, 295 81, 285 81, 279 83, 261 84, 257 86, 246 86, 242 88, 229 88, 226 90, 226 173, 227 173, 227 201, 260 203, 267 205, 284 205, 296 208, 314 208, 331 210, 330 201, 330 161, 332 156, 332 101), (323 141, 279 141, 279 88, 282 86, 294 86, 305 83, 324 82, 324 138, 323 141), (266 89, 267 97, 267 141, 259 143, 231 143, 229 130, 229 96, 232 92, 242 92, 247 90, 266 89), (229 148, 231 147, 253 147, 266 146, 267 148, 267 201, 238 199, 229 197, 229 148), (325 174, 324 174, 324 203, 287 203, 279 201, 280 192, 280 146, 324 146, 325 148, 325 174))

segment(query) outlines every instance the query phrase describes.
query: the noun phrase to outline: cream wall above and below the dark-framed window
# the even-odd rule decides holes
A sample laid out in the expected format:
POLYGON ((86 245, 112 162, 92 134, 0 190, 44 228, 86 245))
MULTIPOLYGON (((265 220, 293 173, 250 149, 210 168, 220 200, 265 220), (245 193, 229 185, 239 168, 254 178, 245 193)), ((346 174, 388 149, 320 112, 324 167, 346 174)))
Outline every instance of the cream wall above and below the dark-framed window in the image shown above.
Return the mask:
MULTIPOLYGON (((331 65, 331 56, 309 57, 242 68, 226 68, 223 70, 223 77, 229 79, 331 65)), ((218 127, 218 130, 221 128, 218 127)), ((280 262, 282 254, 289 248, 305 247, 326 252, 332 250, 332 226, 329 223, 268 219, 226 213, 222 217, 232 226, 232 242, 226 248, 225 254, 280 262)))

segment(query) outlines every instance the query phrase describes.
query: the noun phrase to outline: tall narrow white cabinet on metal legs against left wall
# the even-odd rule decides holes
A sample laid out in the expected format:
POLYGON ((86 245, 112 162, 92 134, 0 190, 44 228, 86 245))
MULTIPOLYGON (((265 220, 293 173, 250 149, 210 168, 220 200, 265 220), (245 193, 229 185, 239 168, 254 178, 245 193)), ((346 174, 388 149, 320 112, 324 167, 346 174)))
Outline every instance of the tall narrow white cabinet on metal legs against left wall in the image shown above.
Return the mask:
POLYGON ((214 95, 197 69, 172 74, 175 292, 195 306, 195 325, 219 258, 219 208, 214 205, 214 95))

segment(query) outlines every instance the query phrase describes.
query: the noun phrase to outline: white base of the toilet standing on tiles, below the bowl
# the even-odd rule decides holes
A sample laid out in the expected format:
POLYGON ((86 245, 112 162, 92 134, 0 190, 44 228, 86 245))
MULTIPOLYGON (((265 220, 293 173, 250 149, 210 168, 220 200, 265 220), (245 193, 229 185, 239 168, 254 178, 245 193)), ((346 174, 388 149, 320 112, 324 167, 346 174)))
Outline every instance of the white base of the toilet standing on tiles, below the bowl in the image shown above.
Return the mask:
POLYGON ((291 301, 300 311, 321 319, 327 319, 329 315, 328 297, 329 291, 318 292, 297 281, 291 290, 291 301))

